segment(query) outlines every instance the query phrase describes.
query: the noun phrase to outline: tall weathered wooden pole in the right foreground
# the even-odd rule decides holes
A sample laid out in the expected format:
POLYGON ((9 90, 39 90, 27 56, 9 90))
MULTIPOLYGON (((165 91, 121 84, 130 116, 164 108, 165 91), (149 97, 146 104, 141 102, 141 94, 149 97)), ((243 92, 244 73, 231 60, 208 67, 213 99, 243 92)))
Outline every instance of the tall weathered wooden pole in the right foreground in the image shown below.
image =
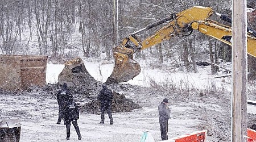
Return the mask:
POLYGON ((233 0, 232 11, 232 141, 247 141, 246 0, 233 0))

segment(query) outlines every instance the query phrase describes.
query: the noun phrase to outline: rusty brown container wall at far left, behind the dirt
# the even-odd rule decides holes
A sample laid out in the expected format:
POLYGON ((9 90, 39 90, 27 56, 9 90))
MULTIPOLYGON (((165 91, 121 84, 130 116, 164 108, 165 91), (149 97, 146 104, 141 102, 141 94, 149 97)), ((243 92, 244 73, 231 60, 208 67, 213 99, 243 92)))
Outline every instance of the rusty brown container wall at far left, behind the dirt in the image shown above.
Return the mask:
POLYGON ((0 87, 25 90, 46 84, 47 56, 0 55, 0 87))

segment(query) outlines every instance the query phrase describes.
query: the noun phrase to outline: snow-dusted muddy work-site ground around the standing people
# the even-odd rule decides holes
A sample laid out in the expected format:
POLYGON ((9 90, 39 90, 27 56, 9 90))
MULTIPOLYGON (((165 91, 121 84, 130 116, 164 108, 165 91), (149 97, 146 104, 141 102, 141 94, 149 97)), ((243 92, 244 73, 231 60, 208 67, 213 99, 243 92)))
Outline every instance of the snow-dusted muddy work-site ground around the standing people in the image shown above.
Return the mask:
MULTIPOLYGON (((79 74, 77 74, 79 75, 79 74)), ((83 82, 70 87, 75 102, 79 103, 81 141, 139 141, 144 131, 149 131, 155 141, 160 141, 158 105, 169 99, 171 119, 168 137, 207 130, 207 141, 231 141, 231 94, 228 91, 198 91, 163 89, 160 86, 142 87, 130 84, 108 85, 115 94, 114 124, 100 124, 97 94, 101 82, 88 80, 86 74, 77 77, 83 82), (88 105, 89 104, 89 105, 88 105), (127 105, 129 104, 129 105, 127 105)), ((56 93, 60 85, 32 86, 28 91, 0 90, 0 120, 19 118, 20 141, 77 141, 71 127, 71 139, 65 140, 63 121, 56 124, 58 105, 56 93)), ((256 100, 255 95, 248 95, 256 100)), ((248 114, 248 127, 255 124, 255 115, 248 114)))

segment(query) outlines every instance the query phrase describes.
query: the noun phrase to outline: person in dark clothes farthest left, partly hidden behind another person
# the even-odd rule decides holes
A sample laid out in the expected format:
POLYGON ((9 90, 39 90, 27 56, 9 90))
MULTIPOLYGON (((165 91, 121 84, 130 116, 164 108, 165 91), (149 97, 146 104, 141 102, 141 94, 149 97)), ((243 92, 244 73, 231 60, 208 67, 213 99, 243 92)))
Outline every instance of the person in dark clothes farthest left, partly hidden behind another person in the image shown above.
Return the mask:
POLYGON ((59 118, 57 120, 57 124, 60 124, 61 119, 63 118, 63 108, 65 105, 65 102, 67 101, 67 96, 72 95, 70 91, 68 90, 67 83, 63 83, 62 88, 57 93, 57 102, 59 105, 59 118))

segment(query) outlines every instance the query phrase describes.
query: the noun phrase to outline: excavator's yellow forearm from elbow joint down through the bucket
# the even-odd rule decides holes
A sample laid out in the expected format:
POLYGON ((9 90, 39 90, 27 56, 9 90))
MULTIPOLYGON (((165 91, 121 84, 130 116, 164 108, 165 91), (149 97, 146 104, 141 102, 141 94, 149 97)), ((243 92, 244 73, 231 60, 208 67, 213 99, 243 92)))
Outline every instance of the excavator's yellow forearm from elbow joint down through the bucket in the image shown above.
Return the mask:
POLYGON ((175 35, 184 36, 191 34, 192 28, 189 27, 190 23, 195 20, 206 20, 212 14, 213 10, 209 7, 195 6, 177 14, 171 14, 167 18, 133 32, 129 37, 123 39, 122 44, 113 48, 114 69, 105 83, 112 84, 126 82, 133 79, 135 76, 138 76, 141 72, 141 67, 137 61, 133 60, 133 54, 135 52, 152 47, 153 45, 159 44, 163 40, 170 39, 175 35), (200 13, 200 15, 198 13, 200 13), (169 21, 168 24, 144 40, 140 40, 136 36, 139 32, 150 30, 151 28, 166 23, 167 21, 169 21))

